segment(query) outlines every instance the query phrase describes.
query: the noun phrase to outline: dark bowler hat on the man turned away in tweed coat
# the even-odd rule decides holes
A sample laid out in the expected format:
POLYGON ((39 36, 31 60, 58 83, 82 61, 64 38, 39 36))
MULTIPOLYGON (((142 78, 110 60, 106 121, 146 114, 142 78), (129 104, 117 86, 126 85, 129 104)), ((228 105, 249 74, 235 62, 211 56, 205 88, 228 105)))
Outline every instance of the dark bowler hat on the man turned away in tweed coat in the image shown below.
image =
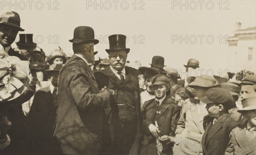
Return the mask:
POLYGON ((69 41, 71 43, 94 43, 94 45, 99 43, 99 40, 94 39, 93 28, 89 26, 76 27, 74 37, 69 41))

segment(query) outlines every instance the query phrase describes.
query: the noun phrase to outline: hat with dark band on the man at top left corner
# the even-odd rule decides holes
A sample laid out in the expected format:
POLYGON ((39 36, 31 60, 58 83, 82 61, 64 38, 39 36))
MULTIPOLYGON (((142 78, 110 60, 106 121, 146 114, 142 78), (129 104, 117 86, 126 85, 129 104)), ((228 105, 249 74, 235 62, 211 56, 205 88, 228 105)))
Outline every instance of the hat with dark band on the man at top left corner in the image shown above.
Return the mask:
POLYGON ((20 27, 20 15, 14 11, 8 11, 1 15, 0 24, 5 24, 17 28, 19 31, 24 31, 20 27))

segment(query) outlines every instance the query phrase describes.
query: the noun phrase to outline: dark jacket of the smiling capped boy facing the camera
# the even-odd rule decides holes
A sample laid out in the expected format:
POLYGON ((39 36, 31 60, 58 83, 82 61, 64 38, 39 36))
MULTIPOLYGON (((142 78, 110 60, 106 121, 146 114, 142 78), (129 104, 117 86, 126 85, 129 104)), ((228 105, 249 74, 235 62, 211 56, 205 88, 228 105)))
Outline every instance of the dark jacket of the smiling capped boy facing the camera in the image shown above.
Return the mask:
MULTIPOLYGON (((146 101, 143 104, 143 108, 145 109, 143 115, 144 139, 140 155, 157 154, 156 138, 154 138, 148 130, 148 126, 151 123, 155 125, 155 121, 157 121, 160 135, 175 137, 177 122, 180 118, 180 108, 175 104, 175 101, 172 98, 167 97, 163 100, 158 110, 155 99, 146 101), (160 111, 160 113, 157 113, 157 111, 160 111)), ((163 145, 163 147, 166 154, 172 152, 172 144, 167 143, 166 145, 163 145)))

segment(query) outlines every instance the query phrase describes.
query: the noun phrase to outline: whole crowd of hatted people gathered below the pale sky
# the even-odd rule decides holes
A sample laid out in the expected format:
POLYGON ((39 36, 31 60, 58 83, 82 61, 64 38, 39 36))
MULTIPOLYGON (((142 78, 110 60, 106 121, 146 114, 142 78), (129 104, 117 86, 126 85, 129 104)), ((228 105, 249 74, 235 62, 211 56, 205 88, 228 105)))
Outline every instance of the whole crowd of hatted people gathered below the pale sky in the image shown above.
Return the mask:
POLYGON ((74 29, 71 57, 46 56, 20 16, 0 17, 0 153, 40 155, 255 155, 256 76, 189 76, 152 57, 127 60, 126 36, 94 60, 94 30, 74 29), (133 68, 133 67, 134 68, 133 68))

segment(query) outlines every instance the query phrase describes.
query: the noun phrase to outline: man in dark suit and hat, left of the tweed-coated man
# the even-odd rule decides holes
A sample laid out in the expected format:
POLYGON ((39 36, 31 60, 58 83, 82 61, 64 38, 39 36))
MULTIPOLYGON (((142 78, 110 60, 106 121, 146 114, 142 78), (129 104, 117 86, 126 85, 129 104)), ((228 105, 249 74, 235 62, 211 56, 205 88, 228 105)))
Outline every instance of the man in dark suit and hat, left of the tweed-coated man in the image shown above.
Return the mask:
MULTIPOLYGON (((51 139, 51 143, 53 142, 52 130, 58 107, 58 73, 61 67, 62 65, 52 64, 48 70, 44 71, 48 75, 49 86, 41 88, 35 93, 28 115, 28 137, 40 137, 43 141, 51 139), (44 108, 38 110, 38 107, 44 108)), ((48 143, 43 143, 37 146, 35 144, 32 142, 32 146, 28 148, 31 154, 56 154, 54 151, 57 147, 54 145, 49 146, 48 143)))

